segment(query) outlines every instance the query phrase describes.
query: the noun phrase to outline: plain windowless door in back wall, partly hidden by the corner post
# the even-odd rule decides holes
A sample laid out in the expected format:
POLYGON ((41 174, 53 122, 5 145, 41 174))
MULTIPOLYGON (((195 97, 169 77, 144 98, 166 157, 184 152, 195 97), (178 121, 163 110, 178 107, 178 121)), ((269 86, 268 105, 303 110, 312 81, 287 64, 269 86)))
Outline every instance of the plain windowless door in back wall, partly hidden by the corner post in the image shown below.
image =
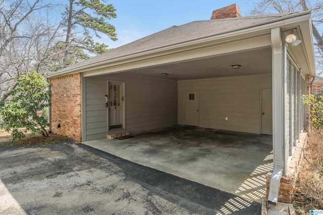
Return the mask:
POLYGON ((261 89, 261 133, 273 134, 273 90, 261 89))

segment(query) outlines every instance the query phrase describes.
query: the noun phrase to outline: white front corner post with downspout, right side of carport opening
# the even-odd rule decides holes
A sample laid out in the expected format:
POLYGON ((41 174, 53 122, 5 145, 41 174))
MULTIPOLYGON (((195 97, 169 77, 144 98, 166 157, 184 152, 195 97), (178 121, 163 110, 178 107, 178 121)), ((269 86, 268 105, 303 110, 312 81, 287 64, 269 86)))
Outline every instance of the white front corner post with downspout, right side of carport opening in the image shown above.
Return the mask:
MULTIPOLYGON (((286 51, 283 50, 281 29, 272 29, 273 47, 273 151, 274 171, 272 173, 268 203, 276 205, 278 202, 279 184, 283 174, 287 170, 285 161, 285 94, 287 88, 285 74, 286 51)), ((286 47, 285 47, 286 48, 286 47)), ((286 50, 286 49, 285 49, 286 50)))

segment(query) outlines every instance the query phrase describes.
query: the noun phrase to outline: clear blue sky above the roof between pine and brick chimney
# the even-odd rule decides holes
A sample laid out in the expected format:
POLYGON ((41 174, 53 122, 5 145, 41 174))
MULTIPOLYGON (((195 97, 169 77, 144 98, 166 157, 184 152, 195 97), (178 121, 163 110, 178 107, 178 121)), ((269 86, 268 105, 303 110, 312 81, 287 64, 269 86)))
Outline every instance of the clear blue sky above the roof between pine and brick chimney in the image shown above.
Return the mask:
POLYGON ((235 3, 242 16, 247 16, 253 8, 252 2, 246 0, 109 0, 107 4, 112 4, 117 10, 117 18, 110 20, 110 23, 116 27, 118 40, 114 42, 102 36, 99 42, 104 42, 109 48, 116 48, 173 25, 209 20, 213 10, 235 3))

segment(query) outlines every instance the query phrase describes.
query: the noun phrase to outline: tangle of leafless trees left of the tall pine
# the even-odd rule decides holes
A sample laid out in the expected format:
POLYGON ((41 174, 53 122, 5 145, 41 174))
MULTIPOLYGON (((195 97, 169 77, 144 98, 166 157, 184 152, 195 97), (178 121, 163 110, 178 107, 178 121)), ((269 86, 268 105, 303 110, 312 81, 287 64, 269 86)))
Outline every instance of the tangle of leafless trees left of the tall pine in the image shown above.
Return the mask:
POLYGON ((40 11, 51 6, 42 0, 0 0, 0 102, 22 74, 35 69, 39 53, 57 38, 57 26, 39 18, 40 11))

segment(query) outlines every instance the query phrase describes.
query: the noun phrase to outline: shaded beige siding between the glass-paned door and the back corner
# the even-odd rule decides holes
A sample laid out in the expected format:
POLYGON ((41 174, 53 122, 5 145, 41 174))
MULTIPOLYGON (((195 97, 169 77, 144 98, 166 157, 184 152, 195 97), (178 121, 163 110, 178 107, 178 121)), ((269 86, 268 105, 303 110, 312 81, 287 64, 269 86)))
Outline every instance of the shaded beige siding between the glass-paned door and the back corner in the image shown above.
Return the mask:
POLYGON ((138 132, 177 124, 177 81, 116 74, 126 82, 126 130, 138 132))

